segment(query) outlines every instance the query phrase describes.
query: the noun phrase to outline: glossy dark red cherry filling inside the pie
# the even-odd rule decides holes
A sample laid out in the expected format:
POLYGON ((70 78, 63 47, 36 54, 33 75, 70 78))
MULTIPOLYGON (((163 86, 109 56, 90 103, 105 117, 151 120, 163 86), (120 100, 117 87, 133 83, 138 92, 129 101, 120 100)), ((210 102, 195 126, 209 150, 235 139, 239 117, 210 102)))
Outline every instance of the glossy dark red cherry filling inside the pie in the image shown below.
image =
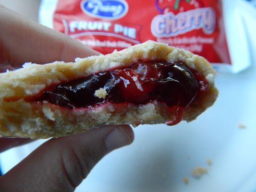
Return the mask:
POLYGON ((153 100, 166 103, 175 119, 182 120, 183 110, 195 96, 202 95, 208 87, 203 74, 189 69, 182 62, 138 61, 125 69, 99 72, 60 84, 46 90, 42 100, 67 108, 86 108, 100 103, 146 104, 153 100), (96 96, 103 88, 104 96, 96 96))

